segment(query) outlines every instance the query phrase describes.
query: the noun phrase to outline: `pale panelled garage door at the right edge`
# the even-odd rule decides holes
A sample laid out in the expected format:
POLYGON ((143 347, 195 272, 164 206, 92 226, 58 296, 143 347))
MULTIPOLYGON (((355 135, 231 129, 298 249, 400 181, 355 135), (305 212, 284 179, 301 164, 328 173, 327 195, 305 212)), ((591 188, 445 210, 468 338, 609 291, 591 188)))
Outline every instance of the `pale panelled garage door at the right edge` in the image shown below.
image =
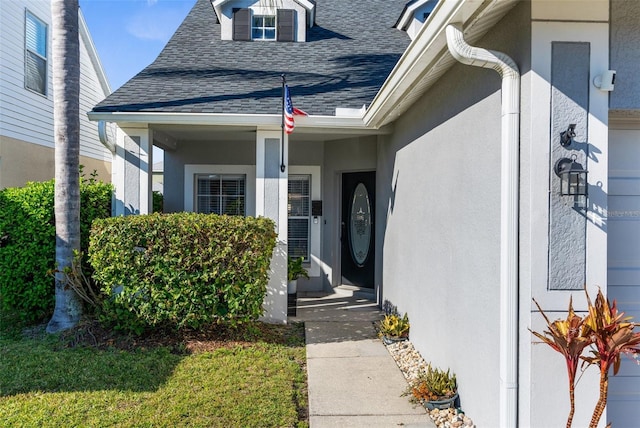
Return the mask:
MULTIPOLYGON (((608 296, 640 322, 640 130, 612 130, 609 144, 608 296)), ((624 357, 609 379, 607 419, 638 426, 640 366, 624 357)))

